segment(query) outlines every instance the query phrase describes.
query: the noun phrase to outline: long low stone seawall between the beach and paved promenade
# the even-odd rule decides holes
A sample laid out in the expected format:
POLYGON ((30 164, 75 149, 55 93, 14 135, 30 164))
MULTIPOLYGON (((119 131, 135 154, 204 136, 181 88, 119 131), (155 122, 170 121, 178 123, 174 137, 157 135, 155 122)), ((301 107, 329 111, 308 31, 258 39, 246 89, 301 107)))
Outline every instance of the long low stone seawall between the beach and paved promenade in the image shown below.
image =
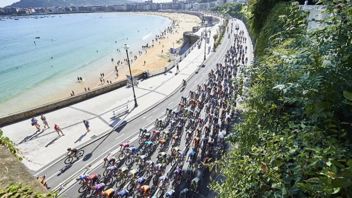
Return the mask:
MULTIPOLYGON (((140 73, 140 74, 135 75, 133 77, 137 78, 137 79, 143 78, 143 73, 140 73)), ((53 110, 56 110, 56 109, 59 109, 59 108, 65 107, 65 106, 69 106, 69 105, 78 103, 82 100, 93 98, 97 95, 113 91, 113 90, 120 88, 120 87, 124 87, 124 86, 126 86, 126 84, 127 84, 127 79, 120 80, 118 82, 111 83, 110 85, 105 85, 105 86, 102 86, 102 87, 99 87, 96 89, 92 89, 88 92, 83 92, 83 93, 76 94, 76 95, 68 97, 68 98, 64 98, 64 99, 57 100, 57 101, 54 101, 51 103, 47 103, 44 105, 33 107, 31 109, 26 109, 24 111, 5 115, 5 116, 0 117, 0 126, 3 126, 5 124, 9 124, 9 123, 13 123, 13 122, 17 122, 19 120, 27 119, 32 116, 38 116, 38 115, 41 115, 45 112, 53 111, 53 110)))

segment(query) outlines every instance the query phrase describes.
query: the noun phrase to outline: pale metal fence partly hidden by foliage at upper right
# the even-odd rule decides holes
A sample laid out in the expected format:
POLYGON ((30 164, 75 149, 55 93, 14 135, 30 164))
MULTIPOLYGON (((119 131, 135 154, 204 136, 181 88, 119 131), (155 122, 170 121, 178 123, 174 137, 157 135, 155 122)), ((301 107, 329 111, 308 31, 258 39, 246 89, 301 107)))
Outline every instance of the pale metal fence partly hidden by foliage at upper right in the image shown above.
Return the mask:
POLYGON ((301 7, 301 10, 310 11, 309 16, 307 18, 308 19, 308 26, 307 26, 308 30, 318 28, 318 26, 320 25, 320 23, 318 23, 316 21, 312 21, 312 19, 321 20, 326 17, 329 17, 329 13, 322 13, 323 11, 325 11, 324 6, 300 5, 300 7, 301 7))

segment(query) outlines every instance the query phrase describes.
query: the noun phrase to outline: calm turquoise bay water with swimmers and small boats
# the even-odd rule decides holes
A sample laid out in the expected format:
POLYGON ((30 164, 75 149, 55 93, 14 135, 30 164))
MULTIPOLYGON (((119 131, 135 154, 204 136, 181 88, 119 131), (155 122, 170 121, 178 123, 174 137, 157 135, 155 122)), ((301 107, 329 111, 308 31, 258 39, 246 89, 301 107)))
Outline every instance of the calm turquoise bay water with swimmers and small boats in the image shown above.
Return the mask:
POLYGON ((107 63, 112 57, 123 61, 117 52, 123 44, 138 53, 170 24, 139 14, 61 16, 0 21, 0 115, 54 100, 77 86, 77 76, 87 81, 104 67, 113 70, 107 63))

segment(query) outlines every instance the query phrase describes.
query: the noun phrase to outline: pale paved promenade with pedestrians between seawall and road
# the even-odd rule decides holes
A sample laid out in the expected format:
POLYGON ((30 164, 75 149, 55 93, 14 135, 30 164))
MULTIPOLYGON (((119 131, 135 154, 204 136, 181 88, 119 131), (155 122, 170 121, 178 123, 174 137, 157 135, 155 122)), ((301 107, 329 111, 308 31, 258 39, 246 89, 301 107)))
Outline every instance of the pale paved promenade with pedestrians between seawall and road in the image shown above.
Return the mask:
MULTIPOLYGON (((212 35, 216 32, 216 29, 218 29, 218 25, 210 27, 212 35)), ((202 30, 197 32, 198 35, 200 35, 200 31, 202 30)), ((135 87, 138 102, 138 107, 136 108, 134 108, 132 88, 122 87, 46 113, 45 117, 48 120, 50 129, 43 129, 44 126, 41 124, 42 130, 36 132, 36 128, 31 126, 30 119, 27 119, 4 126, 2 128, 4 136, 9 137, 10 140, 17 144, 24 158, 23 163, 33 173, 38 172, 58 160, 67 152, 67 148, 77 148, 94 141, 94 138, 126 124, 145 112, 157 101, 172 93, 181 85, 182 79, 187 79, 203 62, 204 44, 205 41, 203 39, 202 47, 200 49, 194 48, 178 64, 180 67, 179 73, 176 73, 176 67, 174 67, 166 74, 140 80, 138 87, 135 87), (112 111, 125 105, 128 105, 131 111, 115 119, 112 111), (83 119, 89 120, 90 132, 86 131, 83 119), (61 127, 65 136, 57 135, 54 130, 54 124, 61 127)), ((214 40, 210 37, 210 44, 207 44, 207 47, 213 46, 213 44, 214 40)), ((209 57, 212 53, 210 52, 206 56, 209 57)), ((152 122, 159 115, 149 114, 142 116, 152 122)), ((40 120, 39 115, 37 119, 40 120)))

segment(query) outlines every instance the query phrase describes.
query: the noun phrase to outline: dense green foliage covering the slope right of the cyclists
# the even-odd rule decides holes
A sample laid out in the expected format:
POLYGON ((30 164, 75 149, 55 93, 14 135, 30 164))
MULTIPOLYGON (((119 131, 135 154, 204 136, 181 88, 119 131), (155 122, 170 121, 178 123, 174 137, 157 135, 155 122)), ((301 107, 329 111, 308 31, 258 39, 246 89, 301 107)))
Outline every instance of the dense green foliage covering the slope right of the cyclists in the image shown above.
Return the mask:
POLYGON ((328 17, 318 29, 306 29, 295 2, 249 21, 274 27, 257 32, 268 42, 244 72, 244 119, 227 137, 234 148, 210 165, 226 178, 209 186, 220 197, 352 196, 352 6, 319 3, 328 17))

